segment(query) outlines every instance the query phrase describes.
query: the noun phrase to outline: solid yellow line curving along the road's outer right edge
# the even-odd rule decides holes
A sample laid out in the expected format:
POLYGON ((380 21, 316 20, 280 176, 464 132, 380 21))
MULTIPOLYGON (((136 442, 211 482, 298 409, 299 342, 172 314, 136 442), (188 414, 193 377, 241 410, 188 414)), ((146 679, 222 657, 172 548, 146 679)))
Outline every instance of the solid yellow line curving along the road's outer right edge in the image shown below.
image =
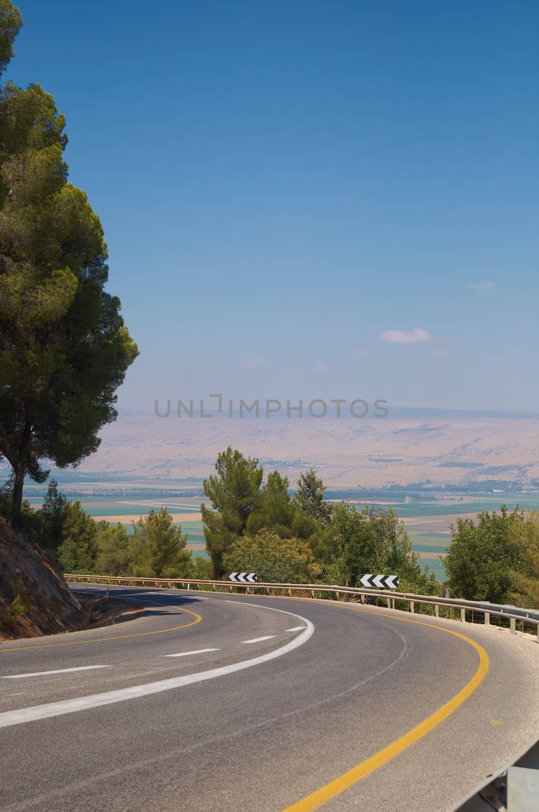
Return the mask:
MULTIPOLYGON (((330 604, 328 604, 330 605, 330 604)), ((410 620, 409 618, 405 617, 396 617, 395 615, 385 615, 379 611, 369 611, 368 609, 359 609, 357 607, 350 607, 347 604, 343 605, 347 609, 351 609, 352 611, 360 611, 364 612, 366 615, 377 615, 378 617, 390 618, 390 620, 400 620, 403 623, 413 623, 418 626, 428 626, 429 628, 435 628, 438 632, 445 632, 446 634, 452 634, 454 637, 459 637, 461 640, 466 641, 472 648, 474 648, 479 654, 479 666, 475 674, 472 676, 472 679, 464 685, 463 689, 459 690, 459 693, 456 693, 453 698, 446 702, 445 705, 442 705, 438 711, 434 711, 433 714, 424 719, 422 722, 416 725, 415 728, 409 730, 403 736, 400 736, 399 739, 393 741, 387 747, 384 747, 381 750, 378 750, 370 758, 366 758, 363 762, 360 762, 356 767, 352 767, 351 770, 343 773, 343 775, 339 775, 338 778, 330 781, 329 784, 321 787, 320 789, 315 790, 313 793, 306 795, 304 798, 301 798, 300 801, 296 801, 291 806, 287 806, 286 809, 282 810, 282 812, 313 812, 313 810, 317 810, 323 804, 326 804, 328 801, 331 801, 334 797, 337 797, 345 790, 351 788, 353 784, 357 784, 358 781, 364 779, 367 775, 377 770, 379 767, 382 767, 387 762, 390 762, 391 759, 395 758, 399 754, 403 753, 408 747, 416 744, 416 741, 419 741, 426 736, 434 728, 438 727, 438 724, 442 723, 444 719, 447 719, 456 709, 466 702, 466 700, 472 695, 472 693, 479 688, 481 682, 485 679, 487 672, 489 671, 489 655, 486 653, 485 649, 476 643, 475 640, 472 640, 471 637, 466 637, 464 634, 460 634, 459 632, 454 632, 450 628, 443 628, 442 626, 435 626, 432 623, 425 623, 421 620, 410 620)))

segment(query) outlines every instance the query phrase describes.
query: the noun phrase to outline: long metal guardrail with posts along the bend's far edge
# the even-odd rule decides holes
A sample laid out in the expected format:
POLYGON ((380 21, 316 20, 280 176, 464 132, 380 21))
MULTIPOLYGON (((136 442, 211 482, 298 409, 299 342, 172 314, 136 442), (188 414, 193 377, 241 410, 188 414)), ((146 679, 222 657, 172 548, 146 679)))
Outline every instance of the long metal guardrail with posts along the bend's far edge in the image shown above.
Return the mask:
POLYGON ((200 588, 209 587, 213 592, 228 590, 245 590, 246 594, 255 594, 256 590, 263 590, 265 594, 281 592, 287 593, 290 597, 292 593, 307 593, 307 597, 316 598, 316 593, 326 593, 334 595, 337 600, 341 595, 349 595, 352 598, 360 598, 362 603, 366 603, 368 598, 382 598, 386 601, 387 607, 395 609, 395 602, 404 601, 408 604, 408 610, 412 613, 416 611, 416 605, 428 605, 433 607, 434 617, 440 616, 440 607, 449 607, 460 611, 460 620, 467 622, 466 612, 479 612, 484 616, 485 625, 489 625, 490 616, 498 618, 508 618, 511 634, 516 632, 516 621, 533 624, 536 627, 537 642, 539 642, 539 611, 535 609, 524 609, 520 607, 501 606, 497 603, 481 601, 467 601, 463 598, 441 598, 438 595, 416 595, 407 592, 394 592, 391 590, 370 590, 358 586, 340 586, 336 584, 239 584, 231 581, 211 581, 196 578, 134 578, 127 576, 111 575, 80 575, 77 573, 64 574, 67 581, 84 584, 103 584, 119 586, 153 586, 164 589, 200 588))

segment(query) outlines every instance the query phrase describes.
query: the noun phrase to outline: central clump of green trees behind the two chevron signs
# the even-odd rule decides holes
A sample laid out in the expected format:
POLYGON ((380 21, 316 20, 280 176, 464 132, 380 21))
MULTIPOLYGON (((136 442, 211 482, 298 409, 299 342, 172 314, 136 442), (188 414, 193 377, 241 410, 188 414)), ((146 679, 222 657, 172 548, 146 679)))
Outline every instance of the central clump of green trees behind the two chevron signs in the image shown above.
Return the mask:
POLYGON ((405 590, 438 589, 421 570, 394 511, 327 503, 313 469, 301 475, 295 495, 277 471, 262 486, 258 460, 231 447, 219 455, 216 469, 218 475, 205 481, 215 510, 202 508, 215 577, 251 570, 266 581, 356 586, 362 573, 376 572, 399 575, 405 590))

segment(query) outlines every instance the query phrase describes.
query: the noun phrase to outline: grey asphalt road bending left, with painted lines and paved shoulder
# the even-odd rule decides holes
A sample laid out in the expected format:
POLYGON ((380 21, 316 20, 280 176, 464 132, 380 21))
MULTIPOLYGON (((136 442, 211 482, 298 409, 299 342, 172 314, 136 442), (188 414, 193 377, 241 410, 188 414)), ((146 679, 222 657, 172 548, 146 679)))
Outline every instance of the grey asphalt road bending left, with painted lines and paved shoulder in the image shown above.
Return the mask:
POLYGON ((524 664, 468 624, 293 598, 111 591, 147 611, 0 644, 2 812, 307 812, 320 800, 325 812, 443 812, 530 735, 537 696, 524 664), (481 651, 455 628, 488 654, 475 690, 481 651), (431 716, 433 729, 395 758, 343 792, 330 784, 431 716))

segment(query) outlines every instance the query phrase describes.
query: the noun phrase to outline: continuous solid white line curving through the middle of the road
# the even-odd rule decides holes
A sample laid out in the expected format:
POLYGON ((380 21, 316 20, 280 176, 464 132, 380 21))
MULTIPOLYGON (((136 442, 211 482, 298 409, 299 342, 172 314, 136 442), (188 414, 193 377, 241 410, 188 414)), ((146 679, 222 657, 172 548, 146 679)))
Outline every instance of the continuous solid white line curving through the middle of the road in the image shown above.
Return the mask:
MULTIPOLYGON (((243 601, 228 601, 227 603, 239 603, 244 605, 243 601)), ((301 615, 296 615, 295 612, 260 606, 257 603, 248 603, 247 606, 255 606, 259 609, 269 609, 270 611, 279 611, 284 615, 292 615, 292 617, 296 617, 298 620, 303 620, 305 630, 285 646, 281 646, 281 648, 274 649, 273 651, 268 651, 266 654, 261 654, 258 657, 243 660, 241 663, 232 663, 231 665, 221 666, 219 668, 211 668, 209 671, 201 671, 196 674, 176 676, 170 680, 149 682, 146 683, 146 685, 134 685, 132 688, 106 691, 105 693, 94 693, 88 697, 67 699, 63 702, 50 702, 48 705, 20 708, 19 711, 4 711, 0 713, 0 728, 10 728, 12 725, 34 722, 37 719, 50 719, 53 716, 62 716, 67 713, 76 713, 77 711, 87 711, 90 708, 112 705, 114 702, 125 702, 127 699, 146 697, 153 693, 161 693, 162 691, 169 691, 173 688, 182 688, 183 685, 192 685, 196 682, 213 680, 218 676, 226 676, 237 671, 244 671, 245 668, 261 665, 261 663, 268 663, 272 659, 282 657, 283 654, 288 654, 300 646, 303 646, 304 643, 313 636, 314 625, 310 620, 307 620, 301 615)))

